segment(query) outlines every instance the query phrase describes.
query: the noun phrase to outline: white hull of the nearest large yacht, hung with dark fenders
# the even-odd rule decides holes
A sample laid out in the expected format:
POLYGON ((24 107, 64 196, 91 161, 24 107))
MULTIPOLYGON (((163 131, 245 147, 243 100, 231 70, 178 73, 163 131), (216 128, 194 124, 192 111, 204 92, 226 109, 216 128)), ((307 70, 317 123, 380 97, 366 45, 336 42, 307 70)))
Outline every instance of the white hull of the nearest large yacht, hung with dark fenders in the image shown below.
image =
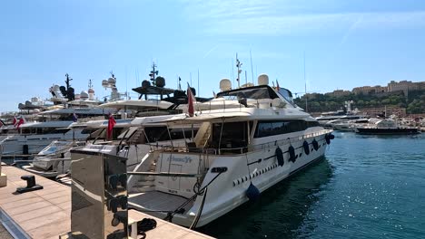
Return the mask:
MULTIPOLYGON (((196 227, 207 225, 246 203, 249 200, 246 196, 246 190, 251 184, 256 186, 262 193, 302 168, 311 165, 314 161, 323 158, 327 147, 324 135, 315 138, 320 146, 317 150, 313 149, 311 145, 312 139, 305 139, 310 145, 308 155, 302 147, 304 139, 292 142, 291 145, 295 148, 295 154, 298 157, 295 162, 289 160, 288 148, 290 144, 281 145, 280 148, 283 151, 284 158, 283 166, 278 165, 275 153, 277 147, 264 148, 237 156, 211 156, 210 159, 212 159, 213 163, 210 165, 210 169, 204 177, 203 185, 201 186, 202 188, 209 184, 205 192, 204 205, 202 206, 203 196, 196 196, 193 205, 184 214, 173 215, 173 223, 191 226, 198 211, 202 208, 202 214, 196 227), (217 176, 217 173, 212 172, 212 168, 217 167, 227 167, 227 171, 217 176)), ((187 154, 185 156, 186 158, 195 158, 187 154)), ((167 156, 163 156, 163 158, 167 158, 167 156)), ((194 161, 191 162, 193 163, 194 161)), ((160 163, 158 162, 158 164, 160 163)), ((184 187, 182 182, 180 187, 184 187)), ((161 189, 159 190, 161 191, 161 189)), ((158 191, 145 192, 144 194, 147 195, 153 192, 157 193, 158 191)), ((162 192, 167 193, 165 190, 162 190, 162 192)), ((173 193, 177 197, 173 190, 168 192, 170 195, 173 195, 173 193)), ((137 196, 130 197, 129 204, 147 214, 159 217, 167 215, 166 213, 158 212, 161 211, 161 206, 155 205, 153 201, 149 204, 143 204, 143 200, 137 200, 137 196), (153 208, 156 210, 152 210, 153 208)), ((158 204, 161 204, 161 202, 158 202, 158 204)))

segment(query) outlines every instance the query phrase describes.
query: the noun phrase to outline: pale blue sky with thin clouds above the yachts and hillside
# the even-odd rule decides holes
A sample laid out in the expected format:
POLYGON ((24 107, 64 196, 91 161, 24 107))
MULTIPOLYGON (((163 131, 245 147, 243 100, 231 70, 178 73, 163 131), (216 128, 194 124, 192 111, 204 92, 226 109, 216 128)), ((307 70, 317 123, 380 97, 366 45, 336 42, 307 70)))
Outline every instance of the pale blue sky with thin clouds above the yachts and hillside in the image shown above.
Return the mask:
POLYGON ((111 71, 118 91, 131 91, 153 61, 166 87, 192 75, 198 95, 211 97, 222 78, 235 82, 236 53, 242 83, 245 71, 254 82, 267 73, 297 95, 305 84, 324 93, 425 81, 424 43, 425 1, 417 0, 6 0, 0 111, 50 98, 65 73, 76 92, 92 79, 96 96, 108 95, 101 83, 111 71))

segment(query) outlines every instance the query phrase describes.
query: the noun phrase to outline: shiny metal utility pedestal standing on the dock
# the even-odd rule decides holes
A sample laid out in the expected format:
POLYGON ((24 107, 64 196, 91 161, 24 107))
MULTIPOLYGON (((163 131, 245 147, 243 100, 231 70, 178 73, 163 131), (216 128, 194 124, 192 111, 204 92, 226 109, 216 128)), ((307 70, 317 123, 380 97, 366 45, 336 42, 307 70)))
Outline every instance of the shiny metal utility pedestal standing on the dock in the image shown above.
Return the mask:
POLYGON ((114 146, 71 151, 71 233, 61 238, 127 238, 126 159, 106 154, 114 146))

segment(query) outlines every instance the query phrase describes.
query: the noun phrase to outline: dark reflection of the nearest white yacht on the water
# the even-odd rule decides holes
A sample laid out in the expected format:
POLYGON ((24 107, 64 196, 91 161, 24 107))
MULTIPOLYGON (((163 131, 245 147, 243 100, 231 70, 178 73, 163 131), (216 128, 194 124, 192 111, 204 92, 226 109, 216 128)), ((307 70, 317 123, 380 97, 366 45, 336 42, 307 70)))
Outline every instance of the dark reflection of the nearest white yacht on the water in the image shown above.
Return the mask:
POLYGON ((283 180, 247 203, 199 231, 218 238, 295 238, 309 207, 333 175, 326 158, 283 180))

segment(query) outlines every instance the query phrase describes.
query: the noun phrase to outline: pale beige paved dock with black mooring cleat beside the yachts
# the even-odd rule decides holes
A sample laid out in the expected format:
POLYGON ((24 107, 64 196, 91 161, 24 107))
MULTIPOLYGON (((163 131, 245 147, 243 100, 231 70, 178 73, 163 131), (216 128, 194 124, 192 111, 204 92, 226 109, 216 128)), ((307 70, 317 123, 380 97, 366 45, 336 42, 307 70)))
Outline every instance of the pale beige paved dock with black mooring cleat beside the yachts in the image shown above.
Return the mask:
MULTIPOLYGON (((0 237, 57 239, 71 231, 71 187, 35 176, 36 184, 44 189, 16 194, 17 187, 26 186, 21 177, 33 174, 5 166, 2 172, 7 175, 7 186, 0 187, 0 221, 9 234, 0 233, 0 237)), ((129 211, 129 225, 145 217, 157 222, 156 228, 146 232, 147 238, 213 238, 134 210, 129 211)))

